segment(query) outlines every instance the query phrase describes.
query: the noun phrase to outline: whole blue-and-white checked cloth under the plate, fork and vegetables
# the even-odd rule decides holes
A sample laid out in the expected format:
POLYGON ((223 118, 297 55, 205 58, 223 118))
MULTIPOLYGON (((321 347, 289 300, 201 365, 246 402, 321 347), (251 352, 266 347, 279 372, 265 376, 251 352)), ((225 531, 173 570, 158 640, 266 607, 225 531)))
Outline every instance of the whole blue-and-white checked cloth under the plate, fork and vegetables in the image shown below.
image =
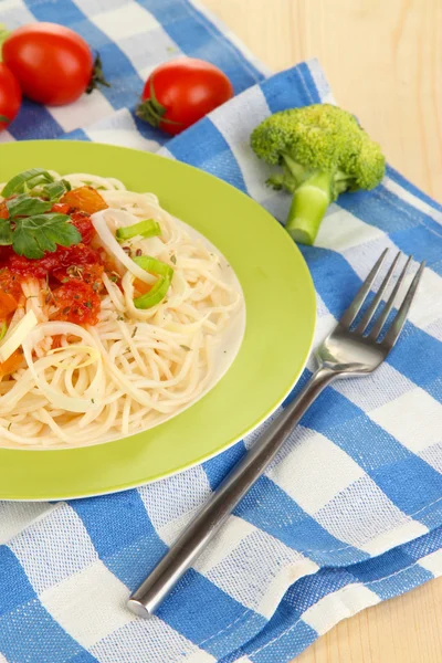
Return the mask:
MULTIPOLYGON (((0 2, 9 28, 32 20, 83 34, 113 86, 64 108, 25 102, 2 140, 156 150, 166 137, 134 116, 143 80, 177 53, 200 56, 227 72, 239 96, 162 154, 285 215, 288 197, 265 189, 249 135, 270 113, 332 101, 316 62, 265 80, 233 35, 187 0, 0 2)), ((385 246, 428 261, 410 320, 377 373, 326 390, 150 621, 125 609, 129 591, 255 434, 139 490, 56 505, 0 503, 0 661, 284 663, 339 620, 441 575, 441 206, 391 168, 375 191, 332 207, 316 246, 303 248, 318 295, 317 339, 385 246)))

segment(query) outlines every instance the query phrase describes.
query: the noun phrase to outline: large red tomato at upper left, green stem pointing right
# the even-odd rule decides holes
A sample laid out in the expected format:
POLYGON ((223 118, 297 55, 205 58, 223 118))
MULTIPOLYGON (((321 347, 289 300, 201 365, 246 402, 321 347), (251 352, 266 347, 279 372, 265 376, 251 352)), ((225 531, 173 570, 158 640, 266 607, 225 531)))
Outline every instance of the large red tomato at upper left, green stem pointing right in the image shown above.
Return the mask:
POLYGON ((40 104, 75 102, 95 83, 107 83, 91 48, 73 30, 55 23, 31 23, 14 30, 3 43, 3 62, 23 94, 40 104))

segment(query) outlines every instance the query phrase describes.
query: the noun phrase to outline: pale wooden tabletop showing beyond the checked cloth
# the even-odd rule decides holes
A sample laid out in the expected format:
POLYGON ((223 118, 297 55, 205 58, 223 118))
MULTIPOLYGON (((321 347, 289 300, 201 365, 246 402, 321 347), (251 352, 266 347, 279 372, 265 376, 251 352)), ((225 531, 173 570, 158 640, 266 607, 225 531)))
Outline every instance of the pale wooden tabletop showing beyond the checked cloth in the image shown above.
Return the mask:
MULTIPOLYGON (((389 162, 442 202, 442 0, 203 0, 274 71, 318 57, 389 162)), ((296 663, 442 663, 442 578, 341 622, 296 663)))

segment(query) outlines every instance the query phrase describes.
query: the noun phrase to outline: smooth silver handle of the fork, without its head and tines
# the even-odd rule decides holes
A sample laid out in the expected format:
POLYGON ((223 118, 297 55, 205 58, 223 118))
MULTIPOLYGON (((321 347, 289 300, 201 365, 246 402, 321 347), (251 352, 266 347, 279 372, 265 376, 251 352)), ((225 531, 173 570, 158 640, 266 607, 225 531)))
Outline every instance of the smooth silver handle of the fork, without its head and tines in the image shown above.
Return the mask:
POLYGON ((260 435, 245 456, 228 474, 218 490, 181 534, 154 571, 128 600, 128 608, 147 618, 157 610, 178 580, 202 552, 240 499, 263 474, 293 429, 335 378, 329 368, 319 368, 295 398, 260 435))

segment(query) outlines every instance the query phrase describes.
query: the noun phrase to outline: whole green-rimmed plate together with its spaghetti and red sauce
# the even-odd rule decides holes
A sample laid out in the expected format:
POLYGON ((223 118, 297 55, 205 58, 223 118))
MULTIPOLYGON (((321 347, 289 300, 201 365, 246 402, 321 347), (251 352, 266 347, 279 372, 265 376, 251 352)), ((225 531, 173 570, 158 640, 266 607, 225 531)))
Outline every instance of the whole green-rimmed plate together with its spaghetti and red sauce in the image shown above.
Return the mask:
POLYGON ((282 402, 311 349, 315 295, 267 212, 147 152, 0 150, 0 498, 171 475, 282 402))

